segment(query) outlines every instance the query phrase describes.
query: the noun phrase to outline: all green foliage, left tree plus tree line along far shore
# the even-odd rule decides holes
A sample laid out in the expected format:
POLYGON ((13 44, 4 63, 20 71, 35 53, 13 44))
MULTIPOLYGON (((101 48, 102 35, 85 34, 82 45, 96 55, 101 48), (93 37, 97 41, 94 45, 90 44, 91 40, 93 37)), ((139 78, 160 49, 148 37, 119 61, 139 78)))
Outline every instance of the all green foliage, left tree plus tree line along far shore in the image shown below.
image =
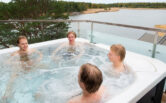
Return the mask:
MULTIPOLYGON (((68 19, 71 12, 82 12, 89 8, 166 8, 166 3, 114 3, 92 4, 56 0, 12 0, 0 2, 0 20, 68 19)), ((30 43, 63 38, 68 31, 67 23, 11 22, 0 23, 0 45, 16 45, 19 35, 28 37, 30 43)))

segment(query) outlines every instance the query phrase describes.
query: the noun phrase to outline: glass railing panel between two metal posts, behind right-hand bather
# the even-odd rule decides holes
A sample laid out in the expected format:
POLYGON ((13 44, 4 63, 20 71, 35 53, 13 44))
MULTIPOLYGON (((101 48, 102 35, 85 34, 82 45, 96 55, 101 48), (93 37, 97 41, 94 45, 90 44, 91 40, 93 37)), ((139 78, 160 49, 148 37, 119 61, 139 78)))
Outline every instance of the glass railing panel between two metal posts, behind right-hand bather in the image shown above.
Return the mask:
POLYGON ((122 44, 123 46, 125 46, 126 50, 140 53, 150 57, 152 55, 151 51, 153 44, 136 39, 125 38, 112 34, 105 34, 103 32, 94 32, 93 42, 104 43, 110 46, 112 44, 122 44))

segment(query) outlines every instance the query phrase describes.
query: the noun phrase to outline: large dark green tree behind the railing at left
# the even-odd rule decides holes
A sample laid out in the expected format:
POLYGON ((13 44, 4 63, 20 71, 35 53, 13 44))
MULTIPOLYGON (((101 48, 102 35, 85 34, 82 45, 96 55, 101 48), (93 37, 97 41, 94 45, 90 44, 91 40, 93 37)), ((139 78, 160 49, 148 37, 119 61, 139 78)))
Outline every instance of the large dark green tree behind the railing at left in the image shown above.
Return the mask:
MULTIPOLYGON (((12 0, 0 4, 0 19, 68 19, 59 2, 51 0, 12 0)), ((63 38, 68 31, 66 23, 11 22, 0 23, 0 44, 16 45, 19 35, 27 36, 30 43, 63 38)))

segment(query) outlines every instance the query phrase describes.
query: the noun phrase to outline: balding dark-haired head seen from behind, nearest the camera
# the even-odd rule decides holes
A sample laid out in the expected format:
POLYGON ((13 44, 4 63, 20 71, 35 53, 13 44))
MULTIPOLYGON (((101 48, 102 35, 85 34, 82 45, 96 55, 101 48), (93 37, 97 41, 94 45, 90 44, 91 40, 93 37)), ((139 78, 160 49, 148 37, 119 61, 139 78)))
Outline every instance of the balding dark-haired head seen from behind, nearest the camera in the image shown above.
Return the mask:
POLYGON ((103 82, 103 76, 100 69, 92 64, 83 64, 79 71, 79 85, 88 93, 95 93, 103 82))

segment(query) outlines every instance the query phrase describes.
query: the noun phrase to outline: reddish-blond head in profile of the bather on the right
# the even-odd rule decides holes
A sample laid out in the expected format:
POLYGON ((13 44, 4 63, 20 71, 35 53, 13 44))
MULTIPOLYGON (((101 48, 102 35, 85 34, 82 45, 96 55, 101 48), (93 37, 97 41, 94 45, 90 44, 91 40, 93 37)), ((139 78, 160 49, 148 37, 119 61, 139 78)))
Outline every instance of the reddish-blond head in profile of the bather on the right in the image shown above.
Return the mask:
POLYGON ((111 62, 122 62, 125 55, 125 48, 121 44, 114 44, 110 47, 108 58, 111 62))

